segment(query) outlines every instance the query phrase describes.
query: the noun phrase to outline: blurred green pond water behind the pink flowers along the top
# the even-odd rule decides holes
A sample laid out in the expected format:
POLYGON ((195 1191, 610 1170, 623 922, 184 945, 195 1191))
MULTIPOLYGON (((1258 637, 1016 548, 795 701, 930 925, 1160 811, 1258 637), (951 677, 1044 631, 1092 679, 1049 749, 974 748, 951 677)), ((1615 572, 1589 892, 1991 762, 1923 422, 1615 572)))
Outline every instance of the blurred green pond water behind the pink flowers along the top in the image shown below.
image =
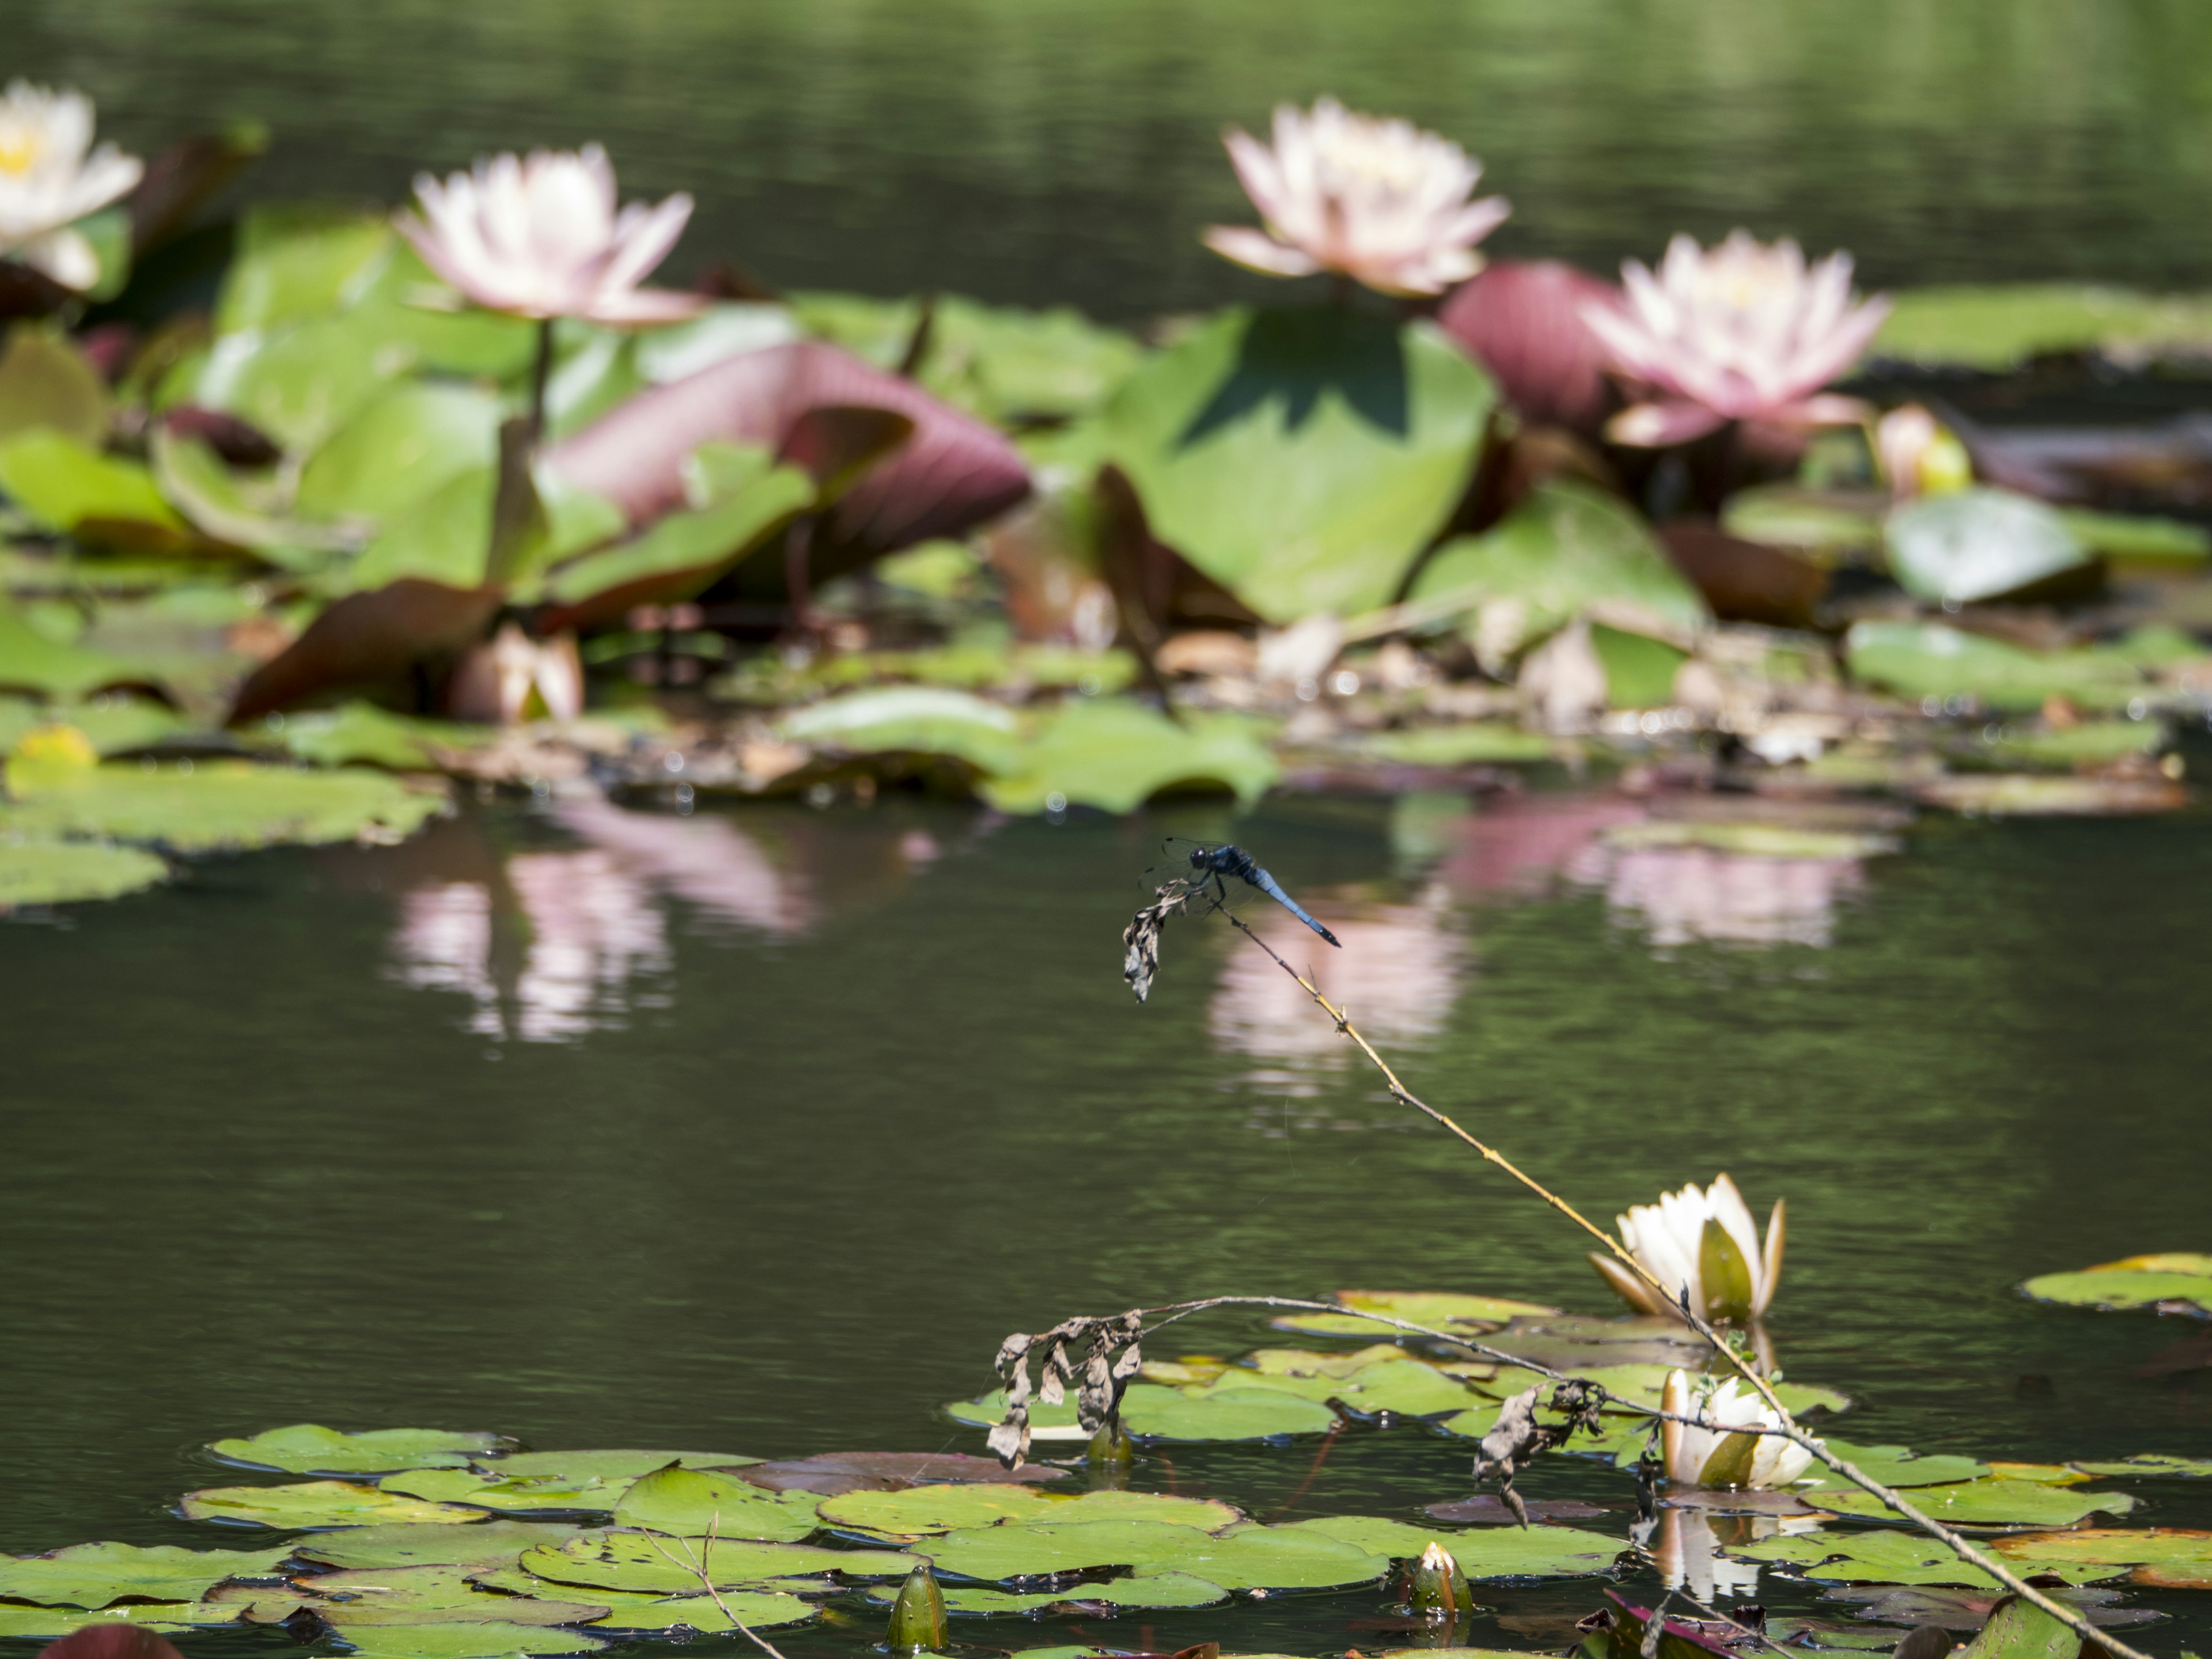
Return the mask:
POLYGON ((11 73, 157 146, 259 117, 268 195, 604 139, 692 190, 672 279, 1077 303, 1263 292, 1223 124, 1336 93, 1471 146, 1506 254, 1674 230, 1847 246, 1874 283, 2212 270, 2212 11, 2190 0, 4 0, 11 73))

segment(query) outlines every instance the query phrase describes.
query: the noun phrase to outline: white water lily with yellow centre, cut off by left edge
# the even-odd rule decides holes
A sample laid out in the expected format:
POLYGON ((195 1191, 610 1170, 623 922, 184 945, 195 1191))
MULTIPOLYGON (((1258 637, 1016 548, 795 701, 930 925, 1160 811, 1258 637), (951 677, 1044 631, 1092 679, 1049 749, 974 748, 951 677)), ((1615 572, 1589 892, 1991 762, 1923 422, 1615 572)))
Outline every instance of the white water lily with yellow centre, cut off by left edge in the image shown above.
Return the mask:
POLYGON ((144 161, 113 144, 93 148, 93 100, 27 80, 0 95, 0 254, 62 288, 100 281, 100 254, 77 219, 137 188, 144 161))

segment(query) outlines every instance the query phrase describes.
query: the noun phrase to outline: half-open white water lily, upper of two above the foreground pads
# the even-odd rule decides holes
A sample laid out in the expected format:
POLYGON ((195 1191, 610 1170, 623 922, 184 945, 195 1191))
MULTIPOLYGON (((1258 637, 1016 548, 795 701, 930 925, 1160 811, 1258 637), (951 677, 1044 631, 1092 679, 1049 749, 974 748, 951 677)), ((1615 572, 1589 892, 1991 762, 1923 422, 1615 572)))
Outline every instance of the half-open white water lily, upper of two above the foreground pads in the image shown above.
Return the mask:
POLYGON ((1774 1301, 1787 1230, 1781 1199, 1767 1219, 1763 1248, 1750 1206, 1725 1175, 1712 1177, 1703 1190, 1692 1181, 1681 1192, 1659 1194, 1659 1203, 1630 1206, 1615 1223, 1628 1254, 1666 1285, 1666 1296, 1610 1256, 1590 1252, 1590 1263, 1639 1314, 1679 1316, 1688 1296, 1699 1318, 1747 1325, 1774 1301))

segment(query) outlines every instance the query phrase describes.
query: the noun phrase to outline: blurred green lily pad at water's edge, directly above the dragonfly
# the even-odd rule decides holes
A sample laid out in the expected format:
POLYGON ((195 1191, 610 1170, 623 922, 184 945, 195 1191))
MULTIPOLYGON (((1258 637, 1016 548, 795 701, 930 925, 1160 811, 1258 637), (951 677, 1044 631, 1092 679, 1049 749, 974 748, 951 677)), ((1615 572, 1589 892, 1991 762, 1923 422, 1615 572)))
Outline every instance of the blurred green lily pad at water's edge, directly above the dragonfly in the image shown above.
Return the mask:
POLYGON ((1237 714, 1186 712, 1170 721, 1119 697, 1086 697, 1051 712, 1018 770, 987 779, 982 796, 1000 812, 1066 805, 1135 812, 1168 790, 1230 790, 1259 801, 1279 774, 1274 754, 1237 714))

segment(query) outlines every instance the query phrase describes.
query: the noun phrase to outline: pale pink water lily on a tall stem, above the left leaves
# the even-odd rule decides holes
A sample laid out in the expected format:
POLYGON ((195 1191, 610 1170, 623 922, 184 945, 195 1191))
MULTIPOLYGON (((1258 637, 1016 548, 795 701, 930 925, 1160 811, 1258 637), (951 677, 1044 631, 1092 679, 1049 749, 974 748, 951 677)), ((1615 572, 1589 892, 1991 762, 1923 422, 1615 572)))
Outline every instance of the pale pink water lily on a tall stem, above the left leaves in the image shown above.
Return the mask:
POLYGON ((491 312, 591 323, 679 323, 697 316, 697 294, 639 288, 677 246, 692 199, 672 195, 615 210, 606 150, 531 150, 484 157, 445 184, 416 179, 422 217, 398 228, 422 261, 491 312))

